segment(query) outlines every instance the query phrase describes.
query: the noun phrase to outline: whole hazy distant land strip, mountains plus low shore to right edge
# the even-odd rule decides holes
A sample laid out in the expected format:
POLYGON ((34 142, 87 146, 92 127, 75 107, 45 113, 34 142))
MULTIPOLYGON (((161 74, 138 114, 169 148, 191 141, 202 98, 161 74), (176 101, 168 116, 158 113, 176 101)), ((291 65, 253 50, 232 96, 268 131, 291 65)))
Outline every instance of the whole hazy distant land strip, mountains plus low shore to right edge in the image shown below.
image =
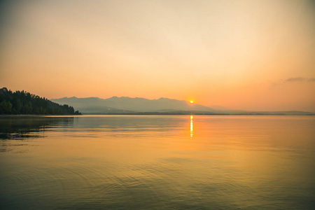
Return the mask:
POLYGON ((304 111, 239 111, 213 109, 177 99, 144 99, 131 97, 63 97, 51 99, 58 104, 68 104, 83 114, 223 114, 223 115, 314 115, 304 111))

